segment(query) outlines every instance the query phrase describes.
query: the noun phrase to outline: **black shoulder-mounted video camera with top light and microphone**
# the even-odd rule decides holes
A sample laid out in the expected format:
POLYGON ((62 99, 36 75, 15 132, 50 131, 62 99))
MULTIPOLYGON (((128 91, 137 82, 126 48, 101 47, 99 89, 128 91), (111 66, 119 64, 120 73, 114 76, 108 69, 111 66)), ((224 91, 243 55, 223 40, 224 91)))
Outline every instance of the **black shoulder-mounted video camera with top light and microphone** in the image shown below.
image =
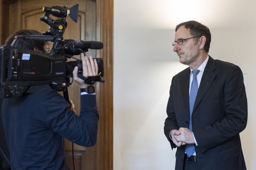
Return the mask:
POLYGON ((88 49, 102 49, 103 43, 97 41, 63 40, 63 33, 67 27, 66 17, 77 22, 78 4, 70 9, 66 6, 43 7, 45 12, 40 17, 49 26, 43 35, 19 35, 16 36, 11 46, 0 46, 0 98, 21 96, 31 86, 49 84, 53 89, 65 91, 73 82, 73 69, 78 67, 78 77, 87 84, 104 82, 102 58, 95 58, 99 74, 97 76, 84 77, 82 75, 82 61, 73 57, 88 51, 88 49), (53 20, 52 14, 59 17, 53 20), (22 48, 26 40, 39 40, 53 42, 49 53, 40 53, 22 48), (68 58, 75 59, 67 61, 68 58), (72 78, 72 81, 70 81, 72 78))

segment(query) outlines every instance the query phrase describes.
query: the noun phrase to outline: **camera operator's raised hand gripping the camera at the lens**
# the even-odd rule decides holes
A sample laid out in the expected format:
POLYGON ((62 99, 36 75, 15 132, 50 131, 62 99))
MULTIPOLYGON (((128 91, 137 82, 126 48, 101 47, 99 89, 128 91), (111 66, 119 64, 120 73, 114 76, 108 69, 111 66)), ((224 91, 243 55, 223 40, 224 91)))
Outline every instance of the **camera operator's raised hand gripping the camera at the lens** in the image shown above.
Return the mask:
MULTIPOLYGON (((85 56, 82 58, 82 65, 83 65, 83 76, 96 76, 98 75, 98 64, 97 61, 90 56, 90 60, 85 56)), ((88 84, 84 83, 84 80, 77 77, 78 67, 75 67, 73 70, 73 77, 74 80, 80 85, 80 88, 87 88, 88 84)))

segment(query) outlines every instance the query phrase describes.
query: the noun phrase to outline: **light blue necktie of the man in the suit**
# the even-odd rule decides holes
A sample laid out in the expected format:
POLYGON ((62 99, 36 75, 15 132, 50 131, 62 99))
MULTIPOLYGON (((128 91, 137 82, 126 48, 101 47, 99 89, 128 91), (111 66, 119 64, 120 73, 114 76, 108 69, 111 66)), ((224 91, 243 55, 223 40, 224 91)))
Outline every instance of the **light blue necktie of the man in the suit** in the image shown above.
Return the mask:
MULTIPOLYGON (((190 131, 192 131, 192 119, 191 119, 191 117, 192 117, 192 111, 193 111, 194 103, 195 103, 196 96, 197 96, 197 90, 198 90, 197 74, 199 72, 200 72, 200 70, 193 70, 192 71, 193 81, 192 81, 192 84, 191 84, 190 95, 189 95, 189 113, 190 113, 189 130, 190 131)), ((187 153, 187 156, 190 157, 195 152, 194 144, 187 144, 185 151, 187 153)))

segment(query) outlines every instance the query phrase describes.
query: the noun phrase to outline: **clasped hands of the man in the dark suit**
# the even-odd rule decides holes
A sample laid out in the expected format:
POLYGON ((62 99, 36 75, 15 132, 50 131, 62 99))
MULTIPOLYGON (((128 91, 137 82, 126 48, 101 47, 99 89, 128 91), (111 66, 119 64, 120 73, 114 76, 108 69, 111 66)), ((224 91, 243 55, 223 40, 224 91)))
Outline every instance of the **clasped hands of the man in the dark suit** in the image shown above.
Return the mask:
POLYGON ((179 130, 172 130, 170 135, 172 137, 172 142, 178 147, 195 143, 192 131, 185 127, 180 127, 179 130))

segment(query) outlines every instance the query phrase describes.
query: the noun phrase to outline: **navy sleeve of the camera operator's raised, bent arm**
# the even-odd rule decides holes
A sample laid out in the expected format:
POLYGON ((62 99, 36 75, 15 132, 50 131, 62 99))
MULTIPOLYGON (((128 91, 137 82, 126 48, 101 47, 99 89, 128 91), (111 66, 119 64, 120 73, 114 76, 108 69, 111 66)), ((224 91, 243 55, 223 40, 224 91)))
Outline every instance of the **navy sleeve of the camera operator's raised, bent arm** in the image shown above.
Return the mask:
POLYGON ((95 95, 81 95, 81 109, 78 116, 69 109, 69 103, 57 92, 45 95, 48 101, 44 107, 46 126, 77 145, 90 147, 97 141, 99 112, 95 95))

